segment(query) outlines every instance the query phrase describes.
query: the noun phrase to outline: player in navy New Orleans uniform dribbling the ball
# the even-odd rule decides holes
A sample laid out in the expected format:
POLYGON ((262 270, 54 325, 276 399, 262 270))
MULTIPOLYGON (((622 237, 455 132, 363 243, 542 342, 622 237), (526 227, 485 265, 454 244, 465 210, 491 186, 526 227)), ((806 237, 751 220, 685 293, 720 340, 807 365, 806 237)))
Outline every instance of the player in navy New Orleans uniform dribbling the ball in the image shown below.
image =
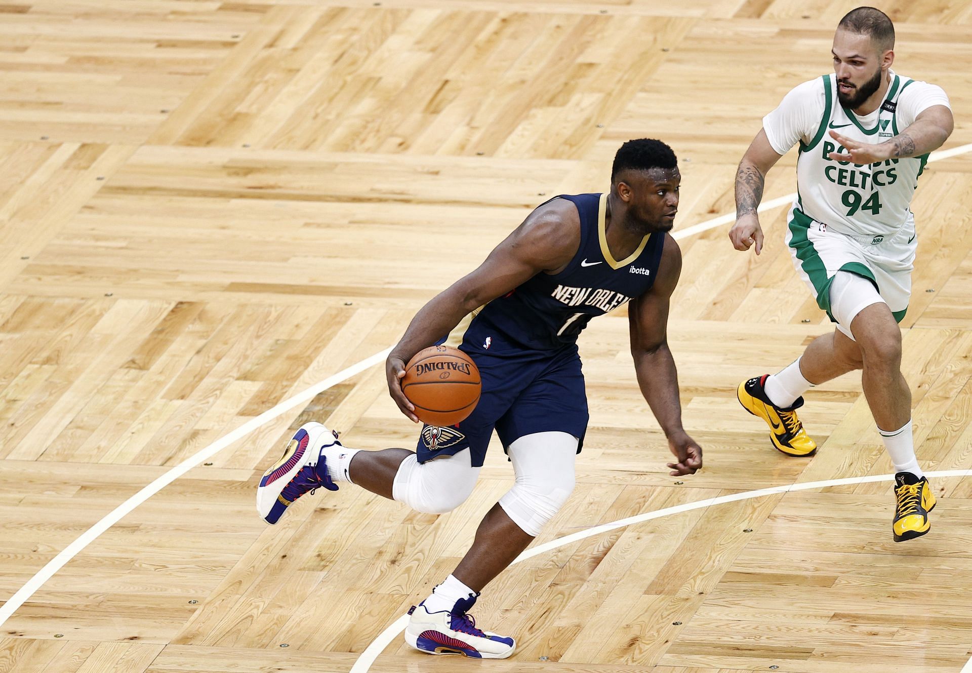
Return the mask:
POLYGON ((513 653, 512 638, 481 630, 468 612, 573 490, 574 456, 588 419, 576 339, 592 317, 631 302, 631 352, 642 394, 676 456, 671 474, 702 467, 702 449, 681 426, 666 342, 681 270, 678 245, 666 233, 679 181, 668 145, 625 143, 614 158, 609 194, 561 195, 541 204, 481 266, 415 315, 388 357, 389 391, 417 422, 399 384, 405 363, 463 323, 460 348, 479 368, 482 397, 458 426, 426 426, 413 452, 348 448, 325 426, 307 423, 260 480, 258 509, 268 523, 301 495, 322 486, 336 490, 337 482, 444 514, 469 497, 497 432, 515 484, 483 518, 452 575, 409 612, 405 640, 413 648, 483 658, 513 653))

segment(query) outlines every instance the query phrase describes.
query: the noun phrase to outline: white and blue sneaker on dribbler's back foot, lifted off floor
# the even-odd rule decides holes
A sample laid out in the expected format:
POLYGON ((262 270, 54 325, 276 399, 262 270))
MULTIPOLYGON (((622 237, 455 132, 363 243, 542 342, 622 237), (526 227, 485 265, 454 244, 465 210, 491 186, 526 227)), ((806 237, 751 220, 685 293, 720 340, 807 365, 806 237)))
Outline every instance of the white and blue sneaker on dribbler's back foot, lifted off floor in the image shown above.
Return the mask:
POLYGON ((284 449, 283 457, 263 473, 257 487, 257 511, 267 523, 276 523, 305 493, 322 486, 336 491, 328 476, 322 449, 340 445, 337 434, 320 423, 305 423, 284 449))

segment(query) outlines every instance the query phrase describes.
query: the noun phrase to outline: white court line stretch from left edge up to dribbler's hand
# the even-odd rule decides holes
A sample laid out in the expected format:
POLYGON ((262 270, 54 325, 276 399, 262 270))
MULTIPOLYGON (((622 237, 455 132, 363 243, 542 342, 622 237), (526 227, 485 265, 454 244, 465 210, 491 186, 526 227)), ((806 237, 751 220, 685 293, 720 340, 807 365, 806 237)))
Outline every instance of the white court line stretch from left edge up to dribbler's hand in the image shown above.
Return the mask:
POLYGON ((17 590, 17 593, 11 596, 10 600, 4 603, 3 607, 0 607, 0 625, 3 625, 5 621, 9 620, 11 615, 17 611, 17 608, 23 605, 24 601, 34 595, 34 592, 37 591, 37 589, 39 589, 45 582, 50 580, 54 573, 63 568, 65 563, 74 558, 82 549, 85 549, 88 545, 90 545, 95 538, 118 523, 122 516, 130 513, 136 507, 154 496, 162 488, 169 485, 177 478, 185 475, 199 463, 207 460, 208 458, 212 458, 229 444, 246 437, 254 430, 260 428, 260 426, 265 425, 266 423, 269 423, 280 414, 298 405, 310 402, 316 395, 324 392, 331 386, 337 385, 338 383, 351 378, 356 373, 364 372, 364 370, 368 369, 372 365, 378 364, 388 356, 391 350, 391 348, 386 348, 380 353, 375 353, 356 365, 352 365, 346 370, 337 372, 320 383, 307 388, 302 393, 295 395, 291 399, 281 402, 276 407, 263 411, 263 413, 256 418, 247 421, 225 437, 209 444, 205 448, 201 449, 198 453, 179 463, 179 465, 175 466, 161 477, 156 478, 155 481, 125 500, 123 503, 121 503, 121 505, 112 510, 111 513, 105 515, 104 518, 88 528, 84 533, 82 533, 81 537, 62 549, 60 553, 48 561, 47 565, 37 571, 37 573, 27 581, 27 584, 21 586, 19 590, 17 590))

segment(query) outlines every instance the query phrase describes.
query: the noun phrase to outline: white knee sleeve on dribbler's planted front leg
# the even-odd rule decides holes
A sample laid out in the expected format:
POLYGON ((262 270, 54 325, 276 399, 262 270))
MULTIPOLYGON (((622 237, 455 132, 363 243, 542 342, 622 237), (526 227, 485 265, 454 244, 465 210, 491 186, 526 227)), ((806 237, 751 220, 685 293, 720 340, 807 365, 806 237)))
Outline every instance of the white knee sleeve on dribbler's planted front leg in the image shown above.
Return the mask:
POLYGON ((573 491, 577 438, 536 433, 509 444, 508 453, 516 483, 500 498, 500 507, 525 533, 537 537, 573 491))

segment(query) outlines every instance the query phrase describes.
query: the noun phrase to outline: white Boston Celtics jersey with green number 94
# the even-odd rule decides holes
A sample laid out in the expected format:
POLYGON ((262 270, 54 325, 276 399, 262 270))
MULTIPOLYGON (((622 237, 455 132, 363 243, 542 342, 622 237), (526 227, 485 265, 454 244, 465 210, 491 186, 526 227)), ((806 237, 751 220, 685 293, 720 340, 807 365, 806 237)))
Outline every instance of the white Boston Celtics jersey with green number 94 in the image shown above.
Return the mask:
POLYGON ((877 123, 868 128, 837 99, 836 75, 824 75, 825 107, 816 135, 800 142, 795 207, 828 228, 853 235, 887 236, 908 221, 911 199, 928 155, 857 164, 828 155, 844 148, 829 131, 864 143, 883 143, 899 132, 898 96, 914 80, 893 75, 877 123))

